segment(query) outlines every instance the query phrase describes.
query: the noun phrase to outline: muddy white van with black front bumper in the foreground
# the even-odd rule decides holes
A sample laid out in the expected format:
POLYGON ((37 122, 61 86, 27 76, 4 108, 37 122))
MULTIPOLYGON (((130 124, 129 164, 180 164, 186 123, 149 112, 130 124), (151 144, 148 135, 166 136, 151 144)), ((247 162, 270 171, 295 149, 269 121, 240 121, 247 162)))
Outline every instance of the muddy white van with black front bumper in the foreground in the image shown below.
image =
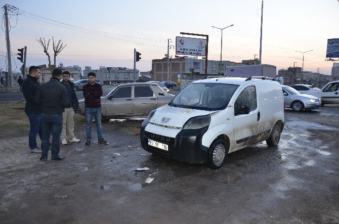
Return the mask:
POLYGON ((284 98, 274 79, 202 79, 151 111, 140 140, 148 152, 220 168, 228 153, 248 145, 277 146, 283 126, 284 98))

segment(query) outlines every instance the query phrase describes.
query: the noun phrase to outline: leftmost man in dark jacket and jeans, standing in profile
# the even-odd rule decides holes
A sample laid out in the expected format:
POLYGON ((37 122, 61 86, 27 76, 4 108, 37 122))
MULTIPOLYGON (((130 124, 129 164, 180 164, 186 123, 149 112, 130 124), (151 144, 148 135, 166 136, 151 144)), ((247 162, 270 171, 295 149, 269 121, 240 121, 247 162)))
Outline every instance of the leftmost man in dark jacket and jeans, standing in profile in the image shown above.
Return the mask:
POLYGON ((22 93, 26 99, 25 113, 29 118, 30 130, 28 137, 28 145, 31 153, 41 153, 41 150, 37 147, 36 136, 39 133, 39 137, 42 137, 42 126, 41 126, 41 113, 43 107, 41 104, 34 102, 36 93, 40 88, 40 84, 37 81, 40 77, 40 69, 36 66, 31 66, 28 69, 29 75, 22 83, 22 93))

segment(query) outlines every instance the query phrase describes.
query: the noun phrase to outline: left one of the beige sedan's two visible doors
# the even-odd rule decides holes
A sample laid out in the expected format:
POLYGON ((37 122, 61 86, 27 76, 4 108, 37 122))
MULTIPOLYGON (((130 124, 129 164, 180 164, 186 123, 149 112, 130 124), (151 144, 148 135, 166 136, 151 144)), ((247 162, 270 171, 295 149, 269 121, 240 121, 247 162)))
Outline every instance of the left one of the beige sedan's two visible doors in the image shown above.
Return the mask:
POLYGON ((131 115, 132 107, 132 86, 118 87, 105 101, 106 115, 131 115))

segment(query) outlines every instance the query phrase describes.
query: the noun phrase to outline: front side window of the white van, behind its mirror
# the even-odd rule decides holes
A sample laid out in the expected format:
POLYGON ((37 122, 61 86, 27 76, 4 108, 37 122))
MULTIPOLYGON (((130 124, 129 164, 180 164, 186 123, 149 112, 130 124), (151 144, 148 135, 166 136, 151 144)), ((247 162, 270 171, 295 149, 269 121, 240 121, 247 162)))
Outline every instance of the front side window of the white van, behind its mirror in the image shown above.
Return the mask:
POLYGON ((249 111, 253 111, 257 109, 257 93, 255 86, 246 87, 238 99, 234 103, 234 114, 239 114, 239 108, 241 105, 248 105, 249 111))

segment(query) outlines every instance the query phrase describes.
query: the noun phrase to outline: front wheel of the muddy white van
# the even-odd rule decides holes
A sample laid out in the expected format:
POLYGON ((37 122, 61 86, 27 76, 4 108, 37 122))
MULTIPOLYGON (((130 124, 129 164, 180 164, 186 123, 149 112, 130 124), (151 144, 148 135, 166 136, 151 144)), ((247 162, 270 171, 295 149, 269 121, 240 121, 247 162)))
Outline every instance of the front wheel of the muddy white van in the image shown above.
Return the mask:
POLYGON ((228 153, 227 144, 218 139, 216 142, 211 145, 209 149, 209 154, 207 158, 207 166, 212 169, 218 169, 224 165, 226 154, 228 153))

